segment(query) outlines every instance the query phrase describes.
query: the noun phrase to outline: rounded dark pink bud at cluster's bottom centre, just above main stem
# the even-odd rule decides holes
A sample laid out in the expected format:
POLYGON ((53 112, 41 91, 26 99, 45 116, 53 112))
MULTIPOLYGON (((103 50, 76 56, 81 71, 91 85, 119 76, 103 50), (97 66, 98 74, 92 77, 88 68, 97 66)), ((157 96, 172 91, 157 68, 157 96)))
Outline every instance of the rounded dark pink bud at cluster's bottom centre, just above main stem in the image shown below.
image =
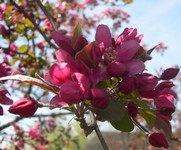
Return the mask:
POLYGON ((103 89, 92 88, 91 89, 91 103, 95 108, 104 109, 109 104, 109 95, 103 89))

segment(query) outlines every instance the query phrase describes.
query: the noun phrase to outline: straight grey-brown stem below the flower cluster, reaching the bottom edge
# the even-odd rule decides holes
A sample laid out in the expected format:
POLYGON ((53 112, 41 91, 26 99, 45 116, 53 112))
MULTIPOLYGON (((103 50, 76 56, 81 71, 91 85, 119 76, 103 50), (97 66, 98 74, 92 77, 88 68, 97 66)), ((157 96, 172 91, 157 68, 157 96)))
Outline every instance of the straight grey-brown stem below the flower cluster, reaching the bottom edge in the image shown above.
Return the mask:
POLYGON ((104 140, 104 137, 102 136, 102 133, 101 133, 101 131, 100 131, 98 125, 97 125, 95 116, 94 116, 92 111, 90 111, 90 118, 91 118, 92 125, 94 126, 94 130, 95 130, 95 132, 96 132, 96 134, 97 134, 97 136, 99 138, 99 141, 100 141, 103 149, 104 150, 109 150, 109 148, 108 148, 108 146, 107 146, 107 144, 106 144, 106 142, 104 140))

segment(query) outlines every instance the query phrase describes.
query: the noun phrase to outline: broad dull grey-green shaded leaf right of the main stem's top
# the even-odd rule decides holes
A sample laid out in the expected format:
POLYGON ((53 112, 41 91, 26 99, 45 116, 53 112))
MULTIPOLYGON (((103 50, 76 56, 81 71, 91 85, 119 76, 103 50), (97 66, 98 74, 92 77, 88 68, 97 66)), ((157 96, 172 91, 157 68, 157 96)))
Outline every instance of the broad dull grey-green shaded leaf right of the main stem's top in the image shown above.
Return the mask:
POLYGON ((121 102, 110 100, 107 108, 94 109, 93 112, 105 120, 118 121, 123 118, 126 110, 121 102))

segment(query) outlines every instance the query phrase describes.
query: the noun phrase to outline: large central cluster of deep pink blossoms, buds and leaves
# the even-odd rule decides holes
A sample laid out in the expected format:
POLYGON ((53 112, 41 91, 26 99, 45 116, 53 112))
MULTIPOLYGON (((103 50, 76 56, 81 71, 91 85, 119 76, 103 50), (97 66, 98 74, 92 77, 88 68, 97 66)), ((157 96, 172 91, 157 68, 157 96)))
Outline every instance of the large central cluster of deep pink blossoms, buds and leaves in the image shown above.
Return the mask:
MULTIPOLYGON (((145 72, 145 61, 151 56, 140 45, 142 37, 137 35, 137 29, 126 28, 114 39, 106 25, 99 25, 95 41, 88 43, 80 25, 73 36, 53 31, 52 38, 60 48, 55 53, 58 63, 51 66, 44 78, 59 90, 50 103, 59 107, 81 103, 121 131, 132 131, 131 118, 138 115, 151 127, 156 126, 157 118, 169 123, 177 97, 169 80, 179 69, 166 69, 160 77, 145 72), (105 116, 108 111, 110 116, 105 116), (118 125, 124 123, 125 118, 130 122, 129 129, 118 125)), ((165 140, 165 133, 160 134, 158 139, 164 137, 161 140, 165 140)), ((157 134, 149 137, 150 143, 162 147, 154 144, 156 139, 152 140, 152 136, 157 134)))

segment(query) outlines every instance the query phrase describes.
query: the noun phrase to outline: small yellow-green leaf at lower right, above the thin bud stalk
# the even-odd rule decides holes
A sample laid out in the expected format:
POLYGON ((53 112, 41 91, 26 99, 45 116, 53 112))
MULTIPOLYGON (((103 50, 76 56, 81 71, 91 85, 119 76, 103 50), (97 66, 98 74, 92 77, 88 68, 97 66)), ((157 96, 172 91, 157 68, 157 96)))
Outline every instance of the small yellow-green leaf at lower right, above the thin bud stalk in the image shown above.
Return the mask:
POLYGON ((141 116, 146 120, 148 125, 152 128, 155 124, 156 116, 153 111, 142 109, 140 111, 141 116))

